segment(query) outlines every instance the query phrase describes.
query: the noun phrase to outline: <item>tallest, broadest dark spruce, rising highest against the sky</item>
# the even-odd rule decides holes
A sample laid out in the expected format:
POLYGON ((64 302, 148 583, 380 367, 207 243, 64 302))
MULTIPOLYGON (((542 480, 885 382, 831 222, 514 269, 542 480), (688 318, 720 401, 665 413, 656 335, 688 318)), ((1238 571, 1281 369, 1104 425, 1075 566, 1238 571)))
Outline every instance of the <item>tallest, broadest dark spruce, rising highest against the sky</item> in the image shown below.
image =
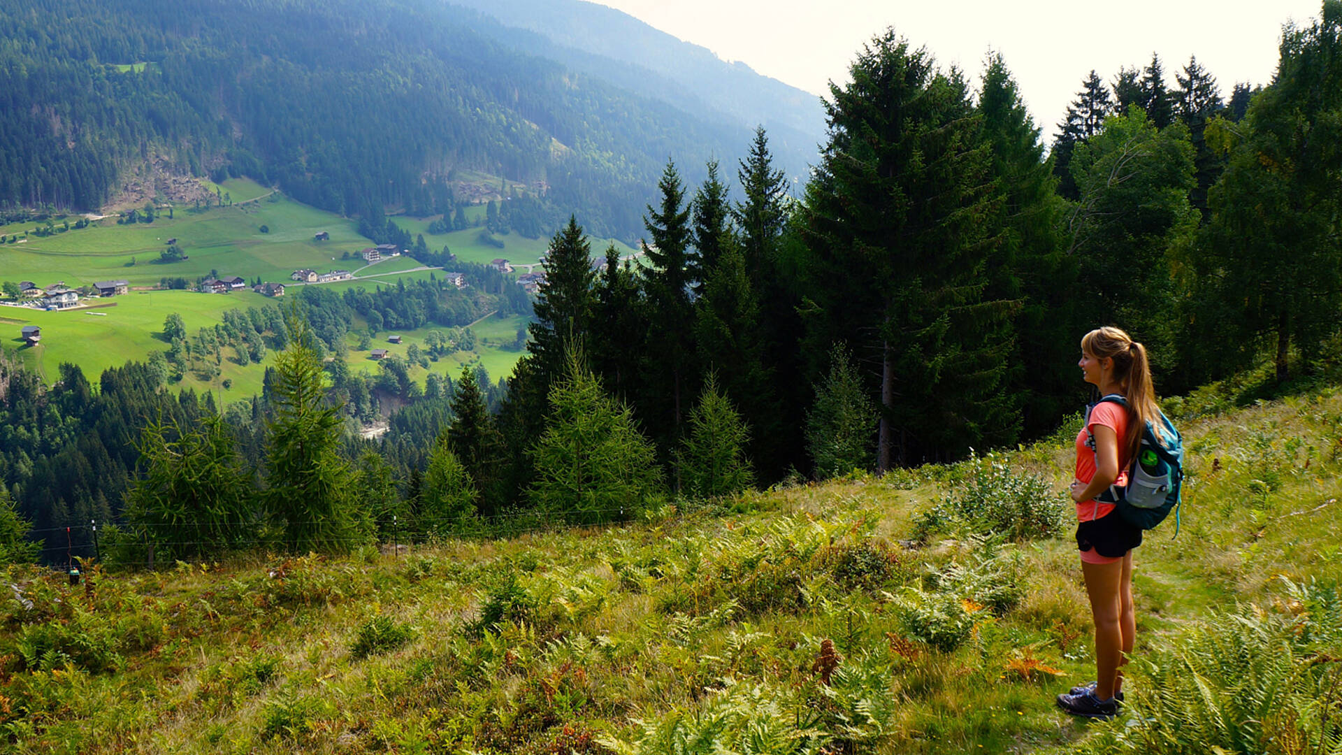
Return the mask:
POLYGON ((831 86, 805 204, 811 341, 860 343, 880 365, 880 470, 1011 442, 1016 304, 986 293, 1002 197, 968 87, 892 31, 851 77, 831 86))

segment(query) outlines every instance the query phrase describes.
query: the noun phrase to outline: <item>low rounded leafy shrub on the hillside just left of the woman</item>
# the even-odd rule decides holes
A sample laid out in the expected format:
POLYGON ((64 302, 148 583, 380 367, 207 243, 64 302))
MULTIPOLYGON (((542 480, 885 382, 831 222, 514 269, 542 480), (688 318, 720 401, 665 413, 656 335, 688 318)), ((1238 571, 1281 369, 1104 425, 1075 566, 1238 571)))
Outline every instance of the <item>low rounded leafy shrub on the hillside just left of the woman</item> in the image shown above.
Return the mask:
POLYGON ((973 466, 958 492, 945 496, 914 523, 914 536, 1005 535, 1041 540, 1063 531, 1063 494, 1037 474, 1020 474, 989 454, 973 466))

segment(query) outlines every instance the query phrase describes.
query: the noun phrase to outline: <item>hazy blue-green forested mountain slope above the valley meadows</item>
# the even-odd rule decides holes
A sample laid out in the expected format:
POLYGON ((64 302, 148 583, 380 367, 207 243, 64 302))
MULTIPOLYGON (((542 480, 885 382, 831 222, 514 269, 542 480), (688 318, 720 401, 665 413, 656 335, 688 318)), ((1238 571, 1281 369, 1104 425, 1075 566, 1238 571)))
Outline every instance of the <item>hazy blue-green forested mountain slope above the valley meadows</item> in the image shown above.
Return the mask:
POLYGON ((0 9, 0 208, 95 210, 129 171, 247 175, 348 215, 451 211, 452 179, 523 181, 554 218, 633 236, 668 154, 749 130, 629 94, 424 0, 129 0, 0 9), (146 63, 146 64, 137 64, 146 63))

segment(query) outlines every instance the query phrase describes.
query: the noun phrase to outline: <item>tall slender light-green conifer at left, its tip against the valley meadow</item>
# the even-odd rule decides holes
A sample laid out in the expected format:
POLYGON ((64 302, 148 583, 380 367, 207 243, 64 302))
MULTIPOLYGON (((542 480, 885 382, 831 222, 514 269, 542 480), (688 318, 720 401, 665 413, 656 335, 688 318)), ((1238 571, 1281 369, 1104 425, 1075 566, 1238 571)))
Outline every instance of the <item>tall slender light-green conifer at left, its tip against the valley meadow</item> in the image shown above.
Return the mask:
POLYGON ((293 312, 286 322, 290 340, 275 356, 270 391, 266 508, 290 552, 348 551, 372 535, 372 521, 353 505, 340 455, 344 423, 326 402, 315 336, 293 312))

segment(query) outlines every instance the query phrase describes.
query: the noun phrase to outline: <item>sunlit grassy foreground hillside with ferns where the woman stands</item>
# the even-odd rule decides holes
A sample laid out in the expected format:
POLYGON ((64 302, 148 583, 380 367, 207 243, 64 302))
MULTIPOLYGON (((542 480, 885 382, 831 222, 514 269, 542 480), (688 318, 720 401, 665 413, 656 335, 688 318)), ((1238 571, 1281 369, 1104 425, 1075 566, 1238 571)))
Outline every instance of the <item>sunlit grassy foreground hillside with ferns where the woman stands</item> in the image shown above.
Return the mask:
POLYGON ((1062 493, 1072 427, 956 466, 400 558, 254 555, 95 570, 81 587, 15 568, 21 595, 0 630, 5 742, 1337 752, 1342 396, 1181 429, 1181 532, 1168 523, 1137 551, 1139 646, 1130 709, 1113 724, 1052 704, 1094 673, 1062 493), (1019 541, 989 532, 1021 524, 1019 541))

